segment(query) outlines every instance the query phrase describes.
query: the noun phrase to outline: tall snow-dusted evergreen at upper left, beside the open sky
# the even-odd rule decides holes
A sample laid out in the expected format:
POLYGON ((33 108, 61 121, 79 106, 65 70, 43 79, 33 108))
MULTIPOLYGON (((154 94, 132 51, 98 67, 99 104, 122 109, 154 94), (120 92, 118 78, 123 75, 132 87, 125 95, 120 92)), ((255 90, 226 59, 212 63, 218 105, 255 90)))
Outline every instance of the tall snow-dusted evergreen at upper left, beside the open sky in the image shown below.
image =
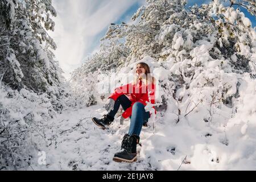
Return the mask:
POLYGON ((47 92, 59 85, 60 68, 47 31, 54 30, 51 0, 0 2, 1 80, 14 89, 47 92))

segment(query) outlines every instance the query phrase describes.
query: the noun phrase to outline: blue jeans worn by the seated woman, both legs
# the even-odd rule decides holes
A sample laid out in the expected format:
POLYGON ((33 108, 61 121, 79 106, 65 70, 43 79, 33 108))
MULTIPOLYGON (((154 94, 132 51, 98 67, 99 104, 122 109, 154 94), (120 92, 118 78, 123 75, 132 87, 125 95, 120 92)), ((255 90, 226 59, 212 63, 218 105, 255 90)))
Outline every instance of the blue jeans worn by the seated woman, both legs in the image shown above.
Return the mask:
MULTIPOLYGON (((120 105, 122 105, 123 110, 126 110, 131 106, 131 101, 125 95, 121 95, 117 98, 114 104, 114 109, 111 110, 108 115, 111 115, 113 118, 117 113, 120 105)), ((148 121, 150 118, 150 112, 146 111, 145 106, 141 102, 135 102, 131 112, 131 123, 129 128, 129 135, 135 134, 138 135, 141 133, 143 123, 148 121)))

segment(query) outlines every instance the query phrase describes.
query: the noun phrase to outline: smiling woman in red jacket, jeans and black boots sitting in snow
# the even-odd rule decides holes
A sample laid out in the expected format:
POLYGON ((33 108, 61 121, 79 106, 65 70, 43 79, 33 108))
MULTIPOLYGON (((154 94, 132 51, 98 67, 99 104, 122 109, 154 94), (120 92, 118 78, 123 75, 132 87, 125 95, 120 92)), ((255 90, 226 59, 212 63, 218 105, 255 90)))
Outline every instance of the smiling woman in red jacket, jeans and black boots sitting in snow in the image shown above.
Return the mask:
MULTIPOLYGON (((155 104, 155 80, 150 76, 150 68, 146 63, 138 63, 136 66, 136 77, 133 82, 116 88, 109 96, 105 105, 108 114, 102 119, 92 118, 93 122, 106 129, 105 125, 110 125, 114 121, 119 106, 123 107, 123 114, 120 119, 122 123, 125 118, 130 117, 130 128, 122 140, 121 152, 114 155, 115 162, 135 162, 137 160, 137 144, 142 125, 147 126, 150 112, 145 110, 147 102, 155 104)), ((155 107, 153 106, 155 109, 155 107)), ((156 114, 156 111, 155 111, 156 114)))

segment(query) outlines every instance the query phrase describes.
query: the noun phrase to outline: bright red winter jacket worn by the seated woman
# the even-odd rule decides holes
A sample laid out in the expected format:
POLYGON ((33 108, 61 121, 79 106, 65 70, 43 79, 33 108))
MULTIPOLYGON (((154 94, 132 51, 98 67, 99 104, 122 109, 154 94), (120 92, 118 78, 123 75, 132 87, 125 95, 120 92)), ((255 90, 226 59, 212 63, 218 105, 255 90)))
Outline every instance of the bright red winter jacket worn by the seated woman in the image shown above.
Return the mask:
MULTIPOLYGON (((113 100, 117 100, 117 98, 121 95, 125 94, 129 100, 131 101, 131 106, 123 112, 123 118, 128 118, 131 116, 131 111, 135 102, 141 102, 144 106, 146 106, 146 101, 151 101, 151 104, 155 104, 155 85, 154 84, 142 84, 140 80, 137 84, 127 84, 115 88, 114 93, 112 93, 109 98, 113 98, 113 100), (148 94, 150 92, 150 94, 148 94)), ((153 106, 155 109, 155 107, 153 106)), ((155 110, 156 114, 156 110, 155 110)))

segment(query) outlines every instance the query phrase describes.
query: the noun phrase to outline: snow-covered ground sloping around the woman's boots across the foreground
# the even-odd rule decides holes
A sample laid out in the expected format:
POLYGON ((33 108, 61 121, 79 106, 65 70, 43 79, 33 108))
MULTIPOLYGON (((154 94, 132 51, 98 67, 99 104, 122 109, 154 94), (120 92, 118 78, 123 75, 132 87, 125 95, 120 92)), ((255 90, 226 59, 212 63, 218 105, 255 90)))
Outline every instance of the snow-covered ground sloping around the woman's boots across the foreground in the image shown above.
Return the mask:
MULTIPOLYGON (((175 115, 168 109, 163 117, 157 115, 154 128, 152 121, 150 126, 143 127, 137 162, 113 162, 130 121, 120 125, 117 116, 108 130, 102 130, 94 125, 91 117, 105 113, 99 104, 57 115, 48 133, 56 134, 57 138, 51 146, 40 149, 46 152, 46 165, 35 161, 31 167, 37 170, 256 169, 256 137, 243 135, 239 131, 241 125, 229 128, 222 125, 223 122, 196 119, 183 119, 176 124, 175 115)), ((249 132, 253 133, 254 129, 255 126, 250 126, 249 132)))

